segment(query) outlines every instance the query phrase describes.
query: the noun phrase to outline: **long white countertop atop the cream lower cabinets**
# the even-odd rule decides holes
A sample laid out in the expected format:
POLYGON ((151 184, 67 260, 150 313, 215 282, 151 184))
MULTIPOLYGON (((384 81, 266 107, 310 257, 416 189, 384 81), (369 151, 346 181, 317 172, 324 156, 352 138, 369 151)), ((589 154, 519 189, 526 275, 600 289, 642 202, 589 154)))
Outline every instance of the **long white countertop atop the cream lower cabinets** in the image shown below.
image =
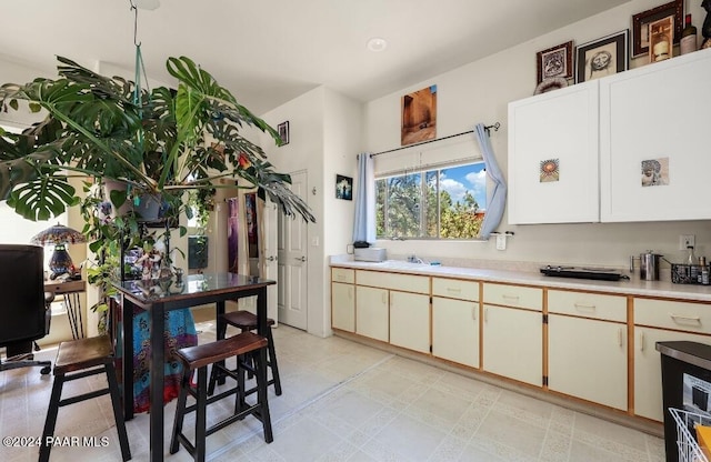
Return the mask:
POLYGON ((330 265, 352 268, 357 270, 388 271, 433 277, 439 275, 484 282, 505 282, 547 288, 602 291, 624 295, 664 297, 680 300, 711 302, 711 285, 674 284, 671 281, 644 281, 640 280, 637 274, 630 274, 631 280, 597 281, 588 279, 548 277, 540 272, 437 267, 423 263, 409 263, 400 260, 387 260, 381 263, 371 263, 364 261, 352 261, 338 257, 331 258, 330 265))

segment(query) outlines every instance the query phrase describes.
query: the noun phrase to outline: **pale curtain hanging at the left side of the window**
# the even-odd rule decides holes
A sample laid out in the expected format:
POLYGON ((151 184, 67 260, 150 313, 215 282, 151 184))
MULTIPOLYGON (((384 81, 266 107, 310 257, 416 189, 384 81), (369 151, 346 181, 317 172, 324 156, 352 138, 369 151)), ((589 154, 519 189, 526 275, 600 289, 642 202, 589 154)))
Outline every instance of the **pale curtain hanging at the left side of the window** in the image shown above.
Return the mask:
POLYGON ((353 242, 375 243, 375 179, 370 152, 358 155, 353 242))

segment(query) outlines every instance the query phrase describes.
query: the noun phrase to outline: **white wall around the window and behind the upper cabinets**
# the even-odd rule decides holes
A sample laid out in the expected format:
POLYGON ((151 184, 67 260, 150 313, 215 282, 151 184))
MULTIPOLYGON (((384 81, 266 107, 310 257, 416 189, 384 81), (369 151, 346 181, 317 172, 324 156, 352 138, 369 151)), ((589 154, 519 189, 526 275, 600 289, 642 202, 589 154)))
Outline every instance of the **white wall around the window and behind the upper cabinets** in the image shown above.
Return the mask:
MULTIPOLYGON (((699 29, 704 12, 698 3, 687 2, 699 29), (691 4, 689 4, 691 3, 691 4)), ((400 98, 430 84, 438 86, 437 135, 471 130, 478 122, 501 122, 501 129, 491 133, 491 142, 500 167, 507 171, 507 106, 508 102, 530 97, 535 89, 535 53, 540 50, 574 40, 582 44, 600 37, 631 28, 633 14, 657 7, 657 0, 632 0, 624 6, 590 19, 570 24, 547 36, 521 43, 492 57, 469 63, 451 72, 433 76, 401 91, 370 101, 364 106, 365 149, 372 152, 400 145, 400 98)), ((631 37, 630 37, 631 40, 631 37)), ((473 46, 473 44, 472 44, 473 46)), ((678 48, 675 50, 678 54, 678 48)), ((635 59, 631 67, 643 66, 648 59, 635 59)), ((667 108, 674 117, 675 108, 667 108)), ((553 132, 555 127, 551 127, 553 132)), ((472 145, 477 142, 471 138, 472 145)), ((434 143, 437 144, 437 143, 434 143)), ((699 153, 705 155, 708 153, 699 153)), ((385 154, 388 155, 388 154, 385 154)), ((694 200, 690 198, 690 200, 694 200)), ((705 200, 705 198, 697 198, 705 200)), ((541 204, 544 207, 544 204, 541 204)), ((697 254, 711 254, 711 223, 709 221, 509 225, 504 219, 499 231, 513 231, 505 251, 497 251, 494 242, 378 241, 389 254, 404 255, 415 252, 421 257, 503 262, 571 263, 598 265, 629 265, 629 257, 653 249, 669 260, 680 262, 684 252, 678 250, 678 237, 697 235, 697 254)))

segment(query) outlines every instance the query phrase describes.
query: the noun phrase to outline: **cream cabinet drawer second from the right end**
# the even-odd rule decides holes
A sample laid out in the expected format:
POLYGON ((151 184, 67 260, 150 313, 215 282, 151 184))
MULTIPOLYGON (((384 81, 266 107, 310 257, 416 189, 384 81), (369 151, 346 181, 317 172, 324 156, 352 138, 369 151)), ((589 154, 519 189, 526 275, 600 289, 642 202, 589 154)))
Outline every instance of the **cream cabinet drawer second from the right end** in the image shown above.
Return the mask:
POLYGON ((549 290, 548 312, 627 322, 627 298, 600 293, 549 290))

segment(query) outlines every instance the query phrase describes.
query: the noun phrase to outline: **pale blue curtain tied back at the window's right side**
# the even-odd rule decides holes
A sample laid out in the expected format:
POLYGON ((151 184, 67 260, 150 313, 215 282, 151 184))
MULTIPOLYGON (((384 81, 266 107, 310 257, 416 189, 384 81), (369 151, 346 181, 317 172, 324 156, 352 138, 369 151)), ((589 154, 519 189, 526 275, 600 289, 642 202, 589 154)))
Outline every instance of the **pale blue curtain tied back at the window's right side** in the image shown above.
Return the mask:
POLYGON ((483 123, 478 123, 474 128, 474 135, 479 141, 479 148, 481 154, 484 158, 487 164, 487 175, 493 182, 493 188, 489 190, 487 188, 487 214, 484 221, 481 223, 479 230, 479 238, 489 239, 489 235, 497 229, 503 217, 503 209, 507 204, 507 183, 503 179, 503 173, 497 163, 497 157, 491 149, 491 140, 489 139, 489 132, 484 128, 483 123))

